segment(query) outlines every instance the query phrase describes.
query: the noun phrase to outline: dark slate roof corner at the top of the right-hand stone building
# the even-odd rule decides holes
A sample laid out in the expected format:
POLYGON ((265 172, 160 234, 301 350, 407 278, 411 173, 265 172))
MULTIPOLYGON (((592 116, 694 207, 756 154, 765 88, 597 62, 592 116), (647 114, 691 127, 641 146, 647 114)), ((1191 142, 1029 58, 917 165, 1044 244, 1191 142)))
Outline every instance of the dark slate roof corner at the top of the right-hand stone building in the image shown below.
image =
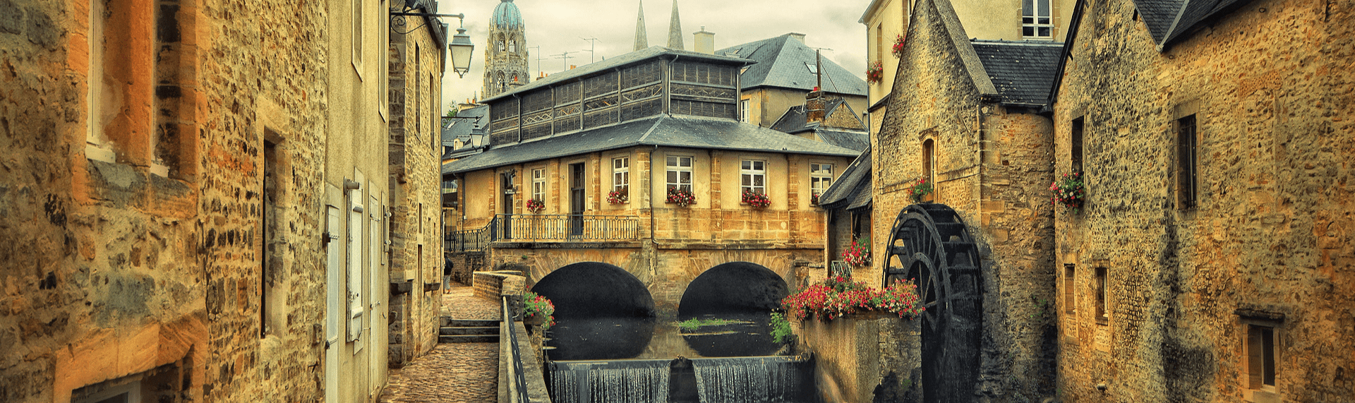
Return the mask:
POLYGON ((1251 0, 1134 0, 1159 49, 1180 39, 1195 26, 1233 11, 1251 0))

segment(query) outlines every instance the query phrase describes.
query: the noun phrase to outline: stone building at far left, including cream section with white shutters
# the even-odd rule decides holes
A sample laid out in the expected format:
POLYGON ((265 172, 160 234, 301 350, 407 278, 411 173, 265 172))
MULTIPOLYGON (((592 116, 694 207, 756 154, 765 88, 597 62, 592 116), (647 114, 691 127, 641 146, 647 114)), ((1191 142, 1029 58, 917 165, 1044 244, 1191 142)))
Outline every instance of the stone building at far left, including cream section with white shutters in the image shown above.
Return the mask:
POLYGON ((0 400, 374 399, 385 5, 0 1, 0 400))

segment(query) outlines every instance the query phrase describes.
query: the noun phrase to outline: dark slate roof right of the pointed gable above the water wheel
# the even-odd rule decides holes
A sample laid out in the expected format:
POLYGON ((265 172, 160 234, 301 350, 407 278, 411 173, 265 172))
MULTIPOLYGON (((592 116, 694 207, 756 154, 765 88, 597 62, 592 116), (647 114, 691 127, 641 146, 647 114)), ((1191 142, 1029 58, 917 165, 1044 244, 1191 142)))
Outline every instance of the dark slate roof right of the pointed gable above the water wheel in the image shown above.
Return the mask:
POLYGON ((972 41, 1003 103, 1042 106, 1049 100, 1064 43, 972 41))

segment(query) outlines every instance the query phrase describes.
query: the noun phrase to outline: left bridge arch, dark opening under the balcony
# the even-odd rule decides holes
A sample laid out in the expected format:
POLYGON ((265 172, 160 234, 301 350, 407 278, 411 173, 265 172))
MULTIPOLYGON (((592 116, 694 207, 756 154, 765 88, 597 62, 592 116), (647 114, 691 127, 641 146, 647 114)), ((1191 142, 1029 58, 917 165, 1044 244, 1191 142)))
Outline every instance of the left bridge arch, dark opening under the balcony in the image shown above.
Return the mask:
POLYGON ((556 304, 556 318, 653 318, 645 284, 615 265, 579 262, 542 277, 533 292, 556 304))

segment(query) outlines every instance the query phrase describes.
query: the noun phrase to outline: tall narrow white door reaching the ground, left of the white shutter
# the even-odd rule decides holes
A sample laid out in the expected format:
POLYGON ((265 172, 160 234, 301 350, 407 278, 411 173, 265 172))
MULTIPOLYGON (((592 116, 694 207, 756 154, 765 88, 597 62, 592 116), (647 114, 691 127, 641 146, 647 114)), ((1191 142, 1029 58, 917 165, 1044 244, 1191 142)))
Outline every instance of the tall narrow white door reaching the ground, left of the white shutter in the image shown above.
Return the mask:
POLYGON ((329 243, 325 247, 325 402, 339 402, 339 341, 340 318, 344 318, 343 308, 343 265, 339 262, 341 247, 339 244, 339 228, 343 221, 339 217, 339 208, 325 208, 325 236, 329 243))

